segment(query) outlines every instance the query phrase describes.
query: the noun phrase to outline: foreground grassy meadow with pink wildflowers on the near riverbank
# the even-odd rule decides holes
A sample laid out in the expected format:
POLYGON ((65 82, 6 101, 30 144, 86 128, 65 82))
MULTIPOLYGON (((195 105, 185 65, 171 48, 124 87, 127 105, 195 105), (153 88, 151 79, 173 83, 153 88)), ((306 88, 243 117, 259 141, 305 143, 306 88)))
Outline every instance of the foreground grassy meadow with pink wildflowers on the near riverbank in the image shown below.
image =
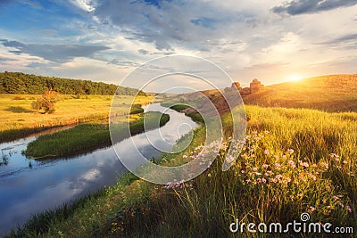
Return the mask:
MULTIPOLYGON (((303 212, 311 222, 355 231, 357 114, 258 106, 246 111, 245 146, 227 172, 221 170, 221 148, 211 168, 185 184, 153 185, 127 175, 71 207, 68 215, 38 215, 12 236, 237 237, 229 231, 237 218, 246 224, 286 224, 299 221, 303 212)), ((204 135, 204 127, 197 128, 185 152, 166 155, 161 163, 189 160, 186 155, 195 156, 204 135)), ((243 235, 258 236, 246 228, 243 235)))

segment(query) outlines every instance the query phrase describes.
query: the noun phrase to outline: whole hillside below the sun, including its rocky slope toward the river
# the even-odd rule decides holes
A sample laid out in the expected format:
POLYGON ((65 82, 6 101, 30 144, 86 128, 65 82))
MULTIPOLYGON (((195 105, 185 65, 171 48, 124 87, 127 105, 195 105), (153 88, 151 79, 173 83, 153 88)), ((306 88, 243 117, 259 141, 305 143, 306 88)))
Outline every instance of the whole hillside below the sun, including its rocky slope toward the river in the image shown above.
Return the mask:
MULTIPOLYGON (((242 88, 238 82, 234 84, 247 105, 307 108, 331 112, 357 111, 357 74, 304 78, 299 81, 272 86, 263 86, 257 79, 253 80, 251 87, 242 88), (256 84, 260 86, 256 87, 256 84)), ((197 101, 198 98, 202 98, 200 94, 204 94, 222 115, 229 111, 228 103, 222 96, 230 101, 239 101, 232 100, 232 98, 237 97, 236 90, 231 86, 220 90, 179 94, 179 101, 197 101)), ((173 101, 175 101, 175 98, 173 98, 173 101)), ((202 103, 198 103, 197 106, 200 110, 205 108, 202 103)))

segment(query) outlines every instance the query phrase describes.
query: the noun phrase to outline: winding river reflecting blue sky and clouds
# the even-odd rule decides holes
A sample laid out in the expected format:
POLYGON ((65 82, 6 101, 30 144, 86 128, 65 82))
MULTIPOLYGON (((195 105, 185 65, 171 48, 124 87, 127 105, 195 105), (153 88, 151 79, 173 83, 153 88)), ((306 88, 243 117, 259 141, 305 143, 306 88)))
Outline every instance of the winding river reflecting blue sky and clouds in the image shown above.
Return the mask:
MULTIPOLYGON (((138 151, 146 158, 158 159, 161 152, 157 148, 170 150, 170 146, 180 136, 198 126, 183 113, 164 108, 159 103, 146 106, 145 111, 167 113, 170 121, 161 128, 134 135, 116 146, 126 148, 128 140, 133 139, 138 151)), ((63 202, 72 201, 104 186, 114 185, 117 178, 127 172, 112 146, 56 160, 30 160, 21 154, 37 136, 60 129, 66 128, 51 129, 0 144, 0 156, 8 161, 6 165, 0 166, 0 236, 10 232, 13 226, 23 225, 32 214, 54 209, 63 202)), ((126 154, 133 159, 138 156, 136 150, 128 150, 126 154)))

